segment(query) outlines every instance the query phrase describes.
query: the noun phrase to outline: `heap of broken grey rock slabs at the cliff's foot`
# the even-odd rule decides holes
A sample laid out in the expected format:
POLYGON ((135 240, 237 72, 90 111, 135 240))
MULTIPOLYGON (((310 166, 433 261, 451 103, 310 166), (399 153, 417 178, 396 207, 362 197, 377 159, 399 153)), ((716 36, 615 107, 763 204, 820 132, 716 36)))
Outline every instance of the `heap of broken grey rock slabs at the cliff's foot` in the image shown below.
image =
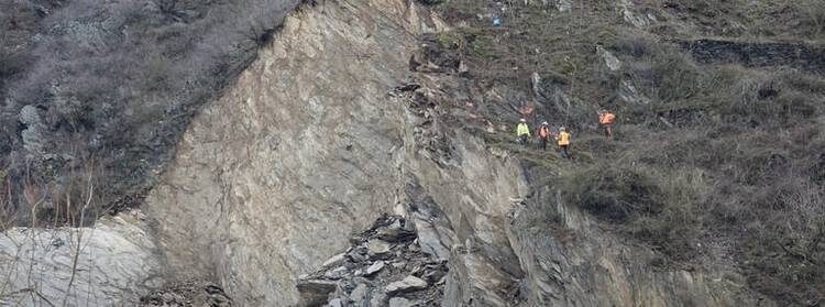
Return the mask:
POLYGON ((447 261, 421 250, 415 224, 398 216, 378 218, 350 239, 351 246, 300 277, 305 306, 439 306, 447 261))

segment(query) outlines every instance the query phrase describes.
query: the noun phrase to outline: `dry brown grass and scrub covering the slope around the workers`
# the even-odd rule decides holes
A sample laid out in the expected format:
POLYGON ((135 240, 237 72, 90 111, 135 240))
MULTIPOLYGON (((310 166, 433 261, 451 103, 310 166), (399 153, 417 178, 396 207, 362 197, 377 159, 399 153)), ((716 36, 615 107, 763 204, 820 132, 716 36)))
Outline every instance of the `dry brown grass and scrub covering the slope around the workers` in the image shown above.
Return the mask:
MULTIPOLYGON (((568 202, 650 244, 662 252, 663 263, 702 266, 691 257, 705 254, 702 261, 713 261, 702 248, 711 240, 730 246, 724 252, 732 254, 754 288, 779 301, 816 301, 825 288, 825 245, 818 239, 825 221, 822 76, 792 68, 745 68, 736 63, 698 65, 669 43, 670 37, 659 36, 682 35, 685 33, 680 31, 689 28, 671 24, 673 32, 651 29, 658 34, 623 29, 616 26, 620 21, 610 15, 614 11, 586 2, 581 15, 593 22, 575 29, 570 25, 579 24, 576 12, 564 15, 514 4, 505 30, 471 31, 476 43, 496 42, 481 48, 494 51, 496 57, 463 53, 470 61, 477 56, 496 67, 475 67, 476 77, 492 78, 486 76, 497 74, 498 67, 517 63, 541 75, 558 74, 564 80, 554 85, 572 94, 572 106, 558 108, 546 101, 547 109, 539 112, 562 114, 573 122, 579 132, 576 151, 591 158, 578 161, 576 168, 561 172, 556 180, 543 182, 563 183, 568 202), (601 19, 605 24, 593 19, 598 14, 605 14, 601 19), (531 29, 544 34, 531 34, 531 29), (620 72, 604 68, 594 52, 596 43, 623 61, 620 72), (508 47, 510 44, 518 47, 508 47), (532 52, 521 53, 521 46, 532 52), (516 61, 506 61, 512 58, 516 61), (631 81, 651 103, 615 99, 618 80, 631 81), (620 118, 617 140, 610 144, 588 135, 597 133, 587 124, 593 120, 591 110, 603 106, 616 110, 620 118)), ((701 32, 694 35, 772 35, 782 40, 815 39, 821 29, 817 12, 824 3, 669 2, 675 3, 666 9, 669 13, 707 26, 697 28, 701 32), (789 25, 793 19, 783 17, 800 17, 802 8, 811 18, 798 18, 799 24, 789 25), (752 25, 749 18, 757 15, 771 17, 760 22, 776 24, 773 33, 740 26, 752 25)), ((662 9, 663 4, 647 1, 645 6, 662 9)), ((475 14, 487 11, 472 7, 470 24, 475 26, 475 14)), ((453 15, 462 17, 459 12, 453 15)), ((444 37, 444 45, 470 46, 461 37, 444 37)), ((513 70, 502 76, 506 76, 502 83, 516 87, 529 84, 527 76, 513 70)), ((553 164, 537 162, 529 152, 522 154, 530 165, 553 164)), ((560 167, 539 168, 557 172, 560 167)), ((552 222, 547 224, 552 228, 552 222)))

